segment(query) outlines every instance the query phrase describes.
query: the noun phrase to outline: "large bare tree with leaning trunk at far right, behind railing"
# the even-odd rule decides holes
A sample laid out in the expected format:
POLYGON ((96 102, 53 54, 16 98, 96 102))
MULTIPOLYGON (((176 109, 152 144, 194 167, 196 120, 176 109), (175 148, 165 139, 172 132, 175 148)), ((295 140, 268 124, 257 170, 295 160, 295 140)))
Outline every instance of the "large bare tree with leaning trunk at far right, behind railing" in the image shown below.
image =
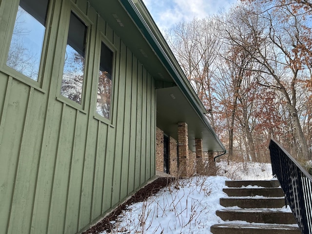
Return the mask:
POLYGON ((228 21, 224 31, 260 65, 259 69, 253 69, 260 74, 258 83, 283 95, 292 113, 302 157, 310 158, 297 110, 299 80, 306 77, 305 67, 309 65, 310 54, 306 48, 309 46, 307 37, 311 38, 311 35, 306 34, 305 18, 288 6, 278 11, 263 10, 258 5, 245 6, 234 9, 232 14, 235 20, 228 21), (288 18, 281 17, 285 14, 288 18))

